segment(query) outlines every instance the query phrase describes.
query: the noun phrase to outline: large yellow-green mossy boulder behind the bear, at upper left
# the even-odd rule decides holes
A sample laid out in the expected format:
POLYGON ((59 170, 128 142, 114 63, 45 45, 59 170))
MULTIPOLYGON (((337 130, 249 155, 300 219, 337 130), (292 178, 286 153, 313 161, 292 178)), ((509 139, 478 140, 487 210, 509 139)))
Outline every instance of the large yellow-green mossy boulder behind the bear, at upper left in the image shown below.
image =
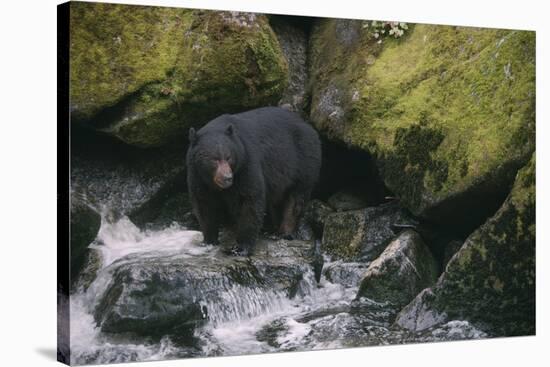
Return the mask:
POLYGON ((276 104, 287 84, 263 15, 73 2, 70 22, 72 120, 128 144, 276 104))

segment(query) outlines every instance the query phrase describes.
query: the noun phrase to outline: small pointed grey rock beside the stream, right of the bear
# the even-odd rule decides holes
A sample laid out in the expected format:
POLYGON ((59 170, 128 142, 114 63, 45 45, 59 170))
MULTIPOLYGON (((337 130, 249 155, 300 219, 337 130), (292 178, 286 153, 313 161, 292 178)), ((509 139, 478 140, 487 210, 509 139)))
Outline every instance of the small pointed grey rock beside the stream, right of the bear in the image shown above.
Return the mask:
POLYGON ((437 262, 420 235, 406 230, 369 265, 357 298, 367 297, 403 307, 435 283, 437 269, 437 262))

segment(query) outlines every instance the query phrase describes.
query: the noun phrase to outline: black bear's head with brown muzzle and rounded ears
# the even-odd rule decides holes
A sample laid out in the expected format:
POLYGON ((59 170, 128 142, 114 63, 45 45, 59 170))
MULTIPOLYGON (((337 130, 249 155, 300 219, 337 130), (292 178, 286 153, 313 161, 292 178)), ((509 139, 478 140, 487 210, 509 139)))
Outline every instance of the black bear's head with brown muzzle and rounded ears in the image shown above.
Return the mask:
POLYGON ((235 127, 229 124, 221 131, 205 132, 191 128, 189 143, 190 159, 200 179, 217 190, 231 187, 244 160, 235 127))

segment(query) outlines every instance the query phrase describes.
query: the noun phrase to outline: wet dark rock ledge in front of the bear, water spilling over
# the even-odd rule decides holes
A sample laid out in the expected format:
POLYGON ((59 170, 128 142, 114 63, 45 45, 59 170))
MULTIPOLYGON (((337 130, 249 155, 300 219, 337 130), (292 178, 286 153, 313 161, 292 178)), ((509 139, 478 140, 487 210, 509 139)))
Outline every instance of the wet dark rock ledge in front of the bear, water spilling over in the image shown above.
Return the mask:
POLYGON ((200 256, 128 256, 111 265, 113 280, 95 319, 104 332, 189 339, 206 321, 249 318, 277 298, 296 296, 312 250, 310 243, 281 240, 262 242, 251 258, 219 248, 200 256))

